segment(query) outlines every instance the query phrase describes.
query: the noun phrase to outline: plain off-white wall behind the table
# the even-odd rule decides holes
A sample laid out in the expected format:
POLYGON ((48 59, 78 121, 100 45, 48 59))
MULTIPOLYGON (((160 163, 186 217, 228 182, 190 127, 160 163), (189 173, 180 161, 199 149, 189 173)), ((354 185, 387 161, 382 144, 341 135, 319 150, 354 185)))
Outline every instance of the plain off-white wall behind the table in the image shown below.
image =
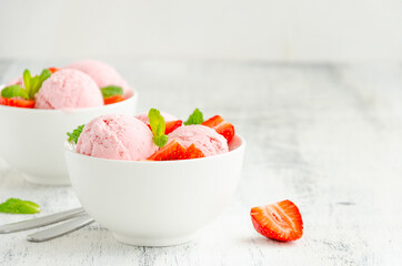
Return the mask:
POLYGON ((401 0, 0 0, 0 59, 402 61, 401 0))

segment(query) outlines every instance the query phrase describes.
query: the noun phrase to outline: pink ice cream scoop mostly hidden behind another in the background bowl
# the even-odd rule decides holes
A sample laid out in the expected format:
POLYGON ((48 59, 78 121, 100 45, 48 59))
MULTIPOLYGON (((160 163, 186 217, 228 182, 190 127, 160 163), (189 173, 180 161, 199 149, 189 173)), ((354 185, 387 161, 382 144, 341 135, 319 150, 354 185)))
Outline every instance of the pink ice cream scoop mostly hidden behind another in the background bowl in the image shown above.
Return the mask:
POLYGON ((91 76, 99 88, 108 85, 121 86, 124 95, 132 93, 125 80, 109 64, 96 60, 82 60, 64 66, 64 69, 74 69, 84 72, 91 76))

